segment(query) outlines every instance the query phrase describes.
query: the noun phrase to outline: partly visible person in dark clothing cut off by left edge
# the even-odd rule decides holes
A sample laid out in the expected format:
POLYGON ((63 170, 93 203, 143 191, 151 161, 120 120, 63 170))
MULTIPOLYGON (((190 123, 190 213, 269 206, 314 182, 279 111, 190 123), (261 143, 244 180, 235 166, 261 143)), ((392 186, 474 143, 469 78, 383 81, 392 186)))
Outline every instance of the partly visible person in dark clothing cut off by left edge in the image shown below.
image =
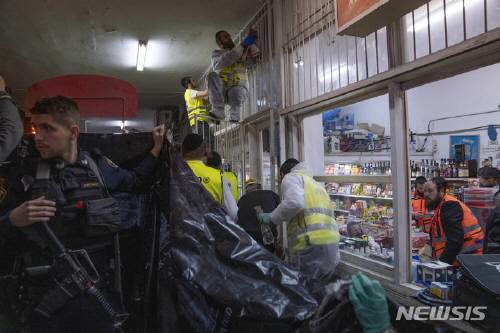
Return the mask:
POLYGON ((0 76, 0 162, 10 155, 23 136, 23 124, 16 104, 6 92, 0 76))

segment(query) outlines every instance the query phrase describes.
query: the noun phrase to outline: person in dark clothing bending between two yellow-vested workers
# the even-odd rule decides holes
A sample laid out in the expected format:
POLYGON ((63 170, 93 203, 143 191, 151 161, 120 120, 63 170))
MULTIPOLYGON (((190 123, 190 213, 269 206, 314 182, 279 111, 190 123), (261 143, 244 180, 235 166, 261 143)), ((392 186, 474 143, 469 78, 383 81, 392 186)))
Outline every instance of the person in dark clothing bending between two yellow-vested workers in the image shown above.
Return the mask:
MULTIPOLYGON (((259 244, 263 245, 270 252, 276 249, 274 244, 264 244, 262 239, 262 231, 259 221, 257 220, 257 210, 262 210, 264 213, 272 212, 280 203, 280 197, 273 191, 263 190, 261 184, 255 180, 246 182, 246 193, 238 201, 238 224, 245 229, 246 232, 259 244), (260 207, 257 208, 256 207, 260 207)), ((276 240, 276 227, 271 226, 274 239, 276 240)))

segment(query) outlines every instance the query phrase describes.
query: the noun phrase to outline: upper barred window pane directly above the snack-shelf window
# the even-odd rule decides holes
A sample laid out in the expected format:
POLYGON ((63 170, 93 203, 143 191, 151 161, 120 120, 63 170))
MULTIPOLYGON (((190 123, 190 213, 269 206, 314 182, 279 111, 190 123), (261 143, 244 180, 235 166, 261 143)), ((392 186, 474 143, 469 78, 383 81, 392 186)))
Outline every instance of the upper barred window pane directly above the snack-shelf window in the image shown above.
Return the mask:
POLYGON ((286 106, 388 70, 387 29, 337 35, 332 0, 293 0, 283 8, 286 106))

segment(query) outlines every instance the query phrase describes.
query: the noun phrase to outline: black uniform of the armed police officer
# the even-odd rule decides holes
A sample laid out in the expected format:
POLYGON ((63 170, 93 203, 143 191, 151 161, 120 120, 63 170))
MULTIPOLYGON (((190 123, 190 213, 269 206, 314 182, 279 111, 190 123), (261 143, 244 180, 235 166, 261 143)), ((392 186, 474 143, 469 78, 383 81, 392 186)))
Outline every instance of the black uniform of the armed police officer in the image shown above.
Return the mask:
MULTIPOLYGON (((55 201, 57 208, 56 217, 49 225, 67 248, 87 250, 101 276, 98 288, 117 308, 120 302, 114 284, 116 258, 113 235, 136 224, 142 216, 132 192, 147 184, 156 161, 153 155, 148 154, 132 171, 119 168, 98 153, 79 152, 77 162, 72 165, 58 159, 46 161, 50 166, 46 197, 55 201), (93 171, 96 168, 92 168, 92 161, 104 184, 93 171)), ((12 270, 19 274, 26 267, 51 265, 53 261, 48 244, 36 232, 35 225, 15 228, 8 218, 13 208, 32 199, 32 189, 37 187, 35 174, 38 163, 25 167, 27 169, 10 187, 0 208, 0 246, 2 254, 6 254, 0 254, 0 275, 4 276, 12 270), (9 260, 11 258, 16 258, 14 269, 13 262, 9 260)), ((22 281, 0 278, 0 301, 6 300, 9 306, 17 304, 16 319, 24 319, 32 332, 114 332, 111 318, 94 298, 83 293, 70 300, 49 320, 37 315, 33 308, 53 287, 50 274, 27 277, 22 281), (21 302, 19 295, 22 295, 21 302)))

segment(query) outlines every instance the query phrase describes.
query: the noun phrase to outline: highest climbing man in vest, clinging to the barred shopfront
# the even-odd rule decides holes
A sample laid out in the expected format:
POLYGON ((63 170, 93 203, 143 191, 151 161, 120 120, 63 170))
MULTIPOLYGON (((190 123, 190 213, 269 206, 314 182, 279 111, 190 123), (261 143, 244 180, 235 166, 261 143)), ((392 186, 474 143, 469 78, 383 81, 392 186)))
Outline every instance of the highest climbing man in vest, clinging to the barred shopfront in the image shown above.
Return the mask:
MULTIPOLYGON (((253 31, 253 30, 252 30, 253 31)), ((212 52, 212 72, 207 76, 212 110, 210 115, 224 119, 224 107, 229 105, 229 121, 239 122, 243 104, 248 97, 248 77, 245 61, 249 47, 255 44, 256 34, 249 35, 235 46, 231 35, 224 30, 215 34, 219 49, 212 52)))

